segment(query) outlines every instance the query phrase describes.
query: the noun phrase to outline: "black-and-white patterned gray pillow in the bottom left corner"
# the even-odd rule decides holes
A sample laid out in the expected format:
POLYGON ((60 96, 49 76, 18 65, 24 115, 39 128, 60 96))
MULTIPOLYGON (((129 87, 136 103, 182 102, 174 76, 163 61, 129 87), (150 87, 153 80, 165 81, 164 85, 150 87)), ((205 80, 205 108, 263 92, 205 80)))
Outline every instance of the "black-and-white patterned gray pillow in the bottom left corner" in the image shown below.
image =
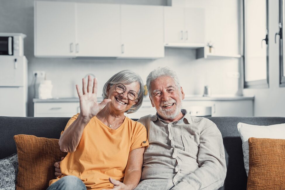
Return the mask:
POLYGON ((0 160, 0 190, 15 190, 17 175, 17 153, 0 160))

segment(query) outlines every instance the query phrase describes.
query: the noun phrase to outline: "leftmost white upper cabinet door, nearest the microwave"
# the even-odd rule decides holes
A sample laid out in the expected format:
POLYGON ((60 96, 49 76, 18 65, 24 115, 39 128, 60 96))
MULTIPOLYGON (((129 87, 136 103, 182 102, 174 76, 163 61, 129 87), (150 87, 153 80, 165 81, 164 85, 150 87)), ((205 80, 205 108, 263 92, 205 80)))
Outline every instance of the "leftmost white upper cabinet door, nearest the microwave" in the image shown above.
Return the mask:
POLYGON ((34 55, 75 57, 75 3, 35 1, 34 55))

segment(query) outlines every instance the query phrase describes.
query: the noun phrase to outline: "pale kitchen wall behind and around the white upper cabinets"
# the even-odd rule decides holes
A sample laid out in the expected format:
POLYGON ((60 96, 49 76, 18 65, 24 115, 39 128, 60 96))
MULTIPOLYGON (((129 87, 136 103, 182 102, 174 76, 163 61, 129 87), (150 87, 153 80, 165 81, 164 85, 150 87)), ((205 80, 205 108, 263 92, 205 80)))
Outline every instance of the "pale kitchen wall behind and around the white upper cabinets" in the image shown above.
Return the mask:
MULTIPOLYGON (((166 0, 61 0, 94 3, 166 5, 166 0)), ((187 6, 202 7, 206 12, 206 40, 214 43, 216 53, 240 54, 239 0, 187 0, 187 6)), ((87 73, 96 75, 101 92, 104 82, 123 69, 133 70, 146 80, 148 73, 158 66, 169 66, 180 78, 186 94, 203 94, 208 85, 212 94, 242 94, 241 78, 230 75, 241 71, 239 59, 195 59, 195 50, 166 48, 165 58, 135 59, 67 59, 34 57, 34 1, 0 0, 0 31, 21 32, 25 38, 28 63, 28 113, 33 116, 34 95, 32 72, 43 70, 53 83, 54 97, 76 97, 75 84, 87 73)), ((101 94, 101 93, 100 93, 101 94)))

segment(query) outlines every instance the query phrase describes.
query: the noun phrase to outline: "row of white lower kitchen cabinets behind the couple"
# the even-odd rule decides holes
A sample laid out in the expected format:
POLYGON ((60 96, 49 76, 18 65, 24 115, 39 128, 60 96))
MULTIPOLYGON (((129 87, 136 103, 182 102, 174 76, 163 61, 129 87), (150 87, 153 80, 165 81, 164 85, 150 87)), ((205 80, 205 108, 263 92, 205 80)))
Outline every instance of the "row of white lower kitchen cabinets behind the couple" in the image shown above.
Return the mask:
MULTIPOLYGON (((101 102, 102 97, 97 101, 101 102)), ((202 97, 186 96, 182 101, 182 108, 194 116, 253 116, 252 96, 232 96, 232 97, 202 97), (198 112, 198 113, 197 113, 198 112)), ((78 98, 61 99, 33 99, 34 117, 72 117, 80 112, 78 98)), ((145 115, 155 115, 156 109, 152 107, 148 97, 135 113, 125 114, 132 119, 139 119, 145 115)))

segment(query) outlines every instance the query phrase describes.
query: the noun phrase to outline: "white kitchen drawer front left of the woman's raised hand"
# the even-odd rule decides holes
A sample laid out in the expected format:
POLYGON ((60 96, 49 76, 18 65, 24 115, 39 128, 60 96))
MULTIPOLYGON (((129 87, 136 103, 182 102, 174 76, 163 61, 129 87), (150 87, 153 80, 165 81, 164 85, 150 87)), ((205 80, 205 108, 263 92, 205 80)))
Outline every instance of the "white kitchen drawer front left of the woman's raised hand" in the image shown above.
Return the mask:
POLYGON ((79 112, 79 102, 34 103, 34 117, 72 117, 79 112))

